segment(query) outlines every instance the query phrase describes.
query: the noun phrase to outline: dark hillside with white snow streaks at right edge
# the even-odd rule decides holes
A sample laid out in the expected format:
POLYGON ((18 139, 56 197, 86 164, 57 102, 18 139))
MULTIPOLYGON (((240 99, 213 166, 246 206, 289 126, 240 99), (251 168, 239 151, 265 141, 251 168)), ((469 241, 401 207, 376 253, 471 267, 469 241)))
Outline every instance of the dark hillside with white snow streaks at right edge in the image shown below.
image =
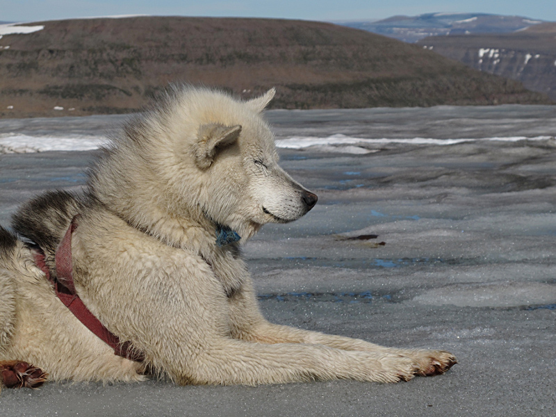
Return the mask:
POLYGON ((556 101, 556 23, 503 34, 439 36, 418 42, 475 70, 521 81, 556 101))

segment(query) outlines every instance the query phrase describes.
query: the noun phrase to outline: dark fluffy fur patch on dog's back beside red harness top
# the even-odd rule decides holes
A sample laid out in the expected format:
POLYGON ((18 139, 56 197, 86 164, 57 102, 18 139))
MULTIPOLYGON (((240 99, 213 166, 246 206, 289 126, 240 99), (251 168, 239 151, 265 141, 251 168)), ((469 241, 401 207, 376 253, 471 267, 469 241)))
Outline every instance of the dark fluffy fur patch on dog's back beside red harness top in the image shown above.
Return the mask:
POLYGON ((76 195, 63 190, 48 191, 23 204, 13 215, 12 227, 40 247, 52 270, 56 248, 79 213, 79 207, 76 195))

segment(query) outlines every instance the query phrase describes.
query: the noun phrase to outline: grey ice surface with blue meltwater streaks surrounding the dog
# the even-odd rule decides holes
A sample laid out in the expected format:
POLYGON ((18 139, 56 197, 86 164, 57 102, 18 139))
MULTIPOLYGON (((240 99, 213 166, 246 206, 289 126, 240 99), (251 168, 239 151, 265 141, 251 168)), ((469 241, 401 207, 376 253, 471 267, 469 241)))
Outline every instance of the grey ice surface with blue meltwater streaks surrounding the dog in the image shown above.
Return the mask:
MULTIPOLYGON (((282 165, 319 201, 245 247, 265 315, 459 364, 395 385, 47 384, 3 390, 2 414, 556 415, 556 107, 267 116, 282 165)), ((0 152, 29 152, 0 154, 0 222, 41 190, 79 190, 95 150, 68 149, 122 120, 0 120, 0 152), (66 150, 35 152, 60 138, 66 150)))

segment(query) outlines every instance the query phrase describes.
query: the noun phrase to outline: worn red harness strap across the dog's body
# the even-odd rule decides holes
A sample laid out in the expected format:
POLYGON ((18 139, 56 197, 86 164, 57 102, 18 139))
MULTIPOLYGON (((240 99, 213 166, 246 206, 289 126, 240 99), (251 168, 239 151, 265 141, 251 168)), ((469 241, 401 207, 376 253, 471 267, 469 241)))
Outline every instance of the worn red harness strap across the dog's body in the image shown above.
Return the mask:
POLYGON ((44 261, 44 252, 42 252, 42 250, 35 250, 33 252, 33 255, 35 256, 35 263, 42 270, 42 272, 47 275, 47 278, 54 286, 54 291, 60 301, 63 302, 68 309, 70 309, 74 316, 76 316, 76 318, 78 318, 78 320, 82 322, 85 327, 101 338, 104 343, 112 347, 114 354, 133 361, 144 361, 144 354, 134 350, 129 341, 122 343, 120 338, 106 329, 99 319, 93 316, 87 306, 83 304, 79 295, 77 295, 74 286, 72 266, 72 234, 76 228, 77 223, 74 218, 72 220, 72 224, 65 232, 65 236, 60 242, 58 249, 56 250, 56 279, 53 279, 50 275, 50 271, 44 261))

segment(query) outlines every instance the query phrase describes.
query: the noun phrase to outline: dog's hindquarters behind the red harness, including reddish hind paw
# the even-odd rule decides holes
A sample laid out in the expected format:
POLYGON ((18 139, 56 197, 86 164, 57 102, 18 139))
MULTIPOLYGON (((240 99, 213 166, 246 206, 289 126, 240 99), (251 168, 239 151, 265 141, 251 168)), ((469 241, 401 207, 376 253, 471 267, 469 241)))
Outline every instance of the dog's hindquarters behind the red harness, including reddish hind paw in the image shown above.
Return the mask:
POLYGON ((0 227, 0 386, 141 381, 142 364, 114 354, 54 294, 22 241, 0 227))

